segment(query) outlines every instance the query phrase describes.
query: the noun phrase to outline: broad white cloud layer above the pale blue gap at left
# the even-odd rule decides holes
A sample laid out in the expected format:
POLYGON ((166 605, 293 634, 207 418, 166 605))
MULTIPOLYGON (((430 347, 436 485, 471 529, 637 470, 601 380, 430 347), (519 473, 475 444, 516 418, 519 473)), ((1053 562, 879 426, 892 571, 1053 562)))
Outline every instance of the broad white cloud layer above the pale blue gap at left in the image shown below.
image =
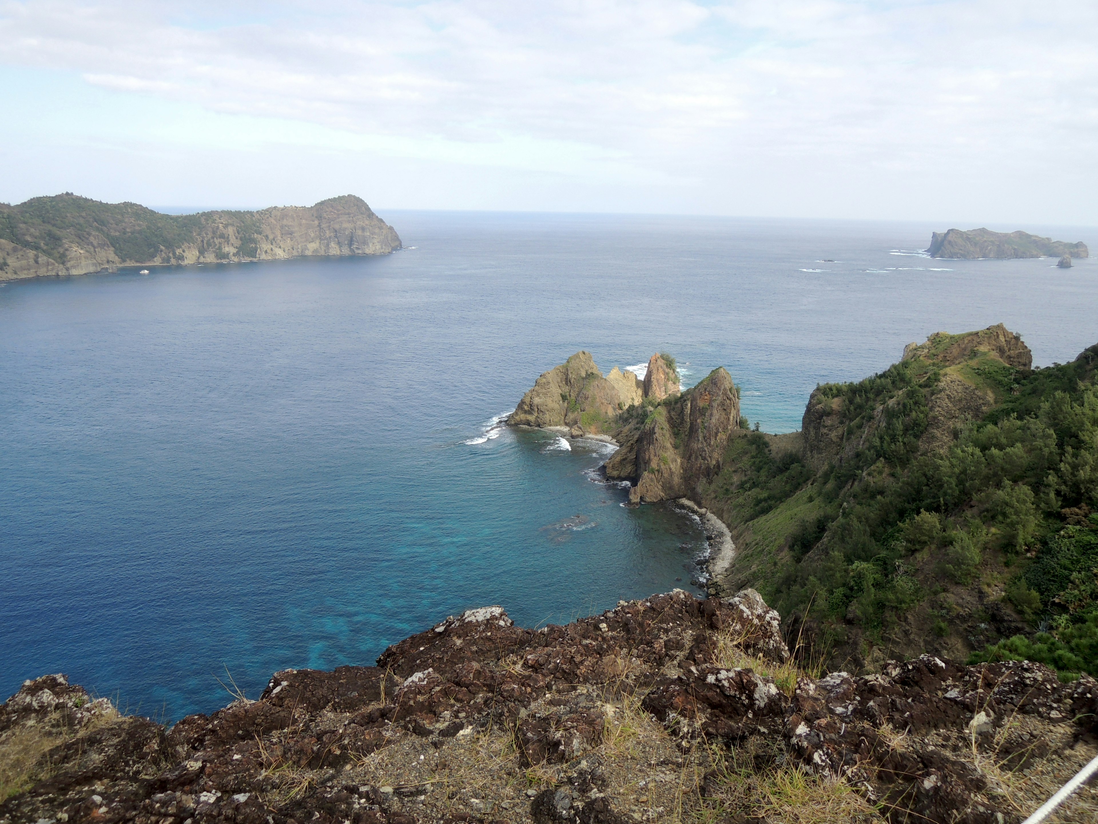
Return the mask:
POLYGON ((909 216, 962 186, 946 205, 1027 216, 1045 182, 1098 171, 1089 1, 223 5, 3 3, 0 62, 318 149, 602 180, 592 208, 659 210, 672 187, 685 211, 781 213, 784 190, 788 213, 909 216))

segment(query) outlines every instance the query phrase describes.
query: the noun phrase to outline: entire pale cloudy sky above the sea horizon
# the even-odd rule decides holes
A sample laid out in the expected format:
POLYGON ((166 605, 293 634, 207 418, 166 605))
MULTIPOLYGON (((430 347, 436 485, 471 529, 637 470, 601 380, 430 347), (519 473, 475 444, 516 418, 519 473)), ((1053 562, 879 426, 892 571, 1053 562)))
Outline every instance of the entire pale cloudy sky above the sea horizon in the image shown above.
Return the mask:
POLYGON ((1098 2, 0 0, 0 114, 12 203, 1098 225, 1098 2))

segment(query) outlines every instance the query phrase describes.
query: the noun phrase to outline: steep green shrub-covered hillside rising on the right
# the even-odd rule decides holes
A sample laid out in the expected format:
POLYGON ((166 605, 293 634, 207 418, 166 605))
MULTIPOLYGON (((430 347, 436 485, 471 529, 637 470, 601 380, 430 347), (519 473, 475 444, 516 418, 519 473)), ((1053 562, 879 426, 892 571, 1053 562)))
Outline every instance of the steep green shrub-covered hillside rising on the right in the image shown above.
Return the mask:
POLYGON ((818 387, 800 434, 735 433, 704 494, 739 546, 718 583, 757 587, 836 664, 1098 675, 1098 346, 1030 364, 1001 325, 939 333, 818 387))

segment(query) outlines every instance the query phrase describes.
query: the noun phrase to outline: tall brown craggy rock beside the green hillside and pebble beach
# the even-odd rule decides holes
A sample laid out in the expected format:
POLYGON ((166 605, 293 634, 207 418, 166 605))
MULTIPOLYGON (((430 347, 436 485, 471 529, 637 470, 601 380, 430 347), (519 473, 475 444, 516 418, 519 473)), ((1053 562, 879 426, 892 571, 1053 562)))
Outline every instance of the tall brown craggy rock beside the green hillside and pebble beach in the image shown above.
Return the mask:
POLYGON ((621 446, 607 461, 606 475, 634 481, 629 498, 635 502, 696 498, 699 485, 719 471, 739 421, 739 390, 719 367, 643 417, 623 422, 615 432, 621 446))

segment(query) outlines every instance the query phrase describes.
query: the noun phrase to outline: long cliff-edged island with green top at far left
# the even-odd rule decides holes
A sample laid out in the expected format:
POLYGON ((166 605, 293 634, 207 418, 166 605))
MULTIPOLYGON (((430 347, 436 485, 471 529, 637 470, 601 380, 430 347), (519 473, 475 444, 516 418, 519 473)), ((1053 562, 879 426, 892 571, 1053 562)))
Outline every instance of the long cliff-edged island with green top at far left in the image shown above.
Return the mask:
POLYGON ((0 280, 399 248, 396 231, 354 194, 312 207, 178 215, 70 192, 0 203, 0 280))

